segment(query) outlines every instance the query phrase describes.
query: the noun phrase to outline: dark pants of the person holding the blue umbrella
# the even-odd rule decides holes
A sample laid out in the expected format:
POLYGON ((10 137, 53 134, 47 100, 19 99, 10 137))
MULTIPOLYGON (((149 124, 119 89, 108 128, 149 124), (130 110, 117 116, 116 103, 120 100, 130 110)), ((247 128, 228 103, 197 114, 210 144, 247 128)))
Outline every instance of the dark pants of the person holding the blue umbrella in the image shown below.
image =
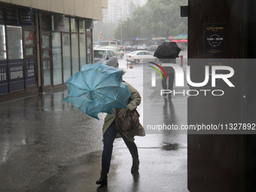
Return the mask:
MULTIPOLYGON (((102 172, 108 172, 110 161, 111 161, 111 155, 113 150, 113 143, 114 139, 117 136, 117 130, 115 128, 115 123, 111 123, 111 125, 108 127, 108 129, 105 131, 103 136, 103 152, 102 152, 102 172)), ((123 133, 119 132, 120 136, 122 136, 123 141, 125 142, 127 148, 130 151, 130 154, 132 154, 133 160, 139 159, 138 155, 138 149, 135 144, 135 142, 130 142, 128 139, 126 139, 125 136, 123 136, 123 133)))

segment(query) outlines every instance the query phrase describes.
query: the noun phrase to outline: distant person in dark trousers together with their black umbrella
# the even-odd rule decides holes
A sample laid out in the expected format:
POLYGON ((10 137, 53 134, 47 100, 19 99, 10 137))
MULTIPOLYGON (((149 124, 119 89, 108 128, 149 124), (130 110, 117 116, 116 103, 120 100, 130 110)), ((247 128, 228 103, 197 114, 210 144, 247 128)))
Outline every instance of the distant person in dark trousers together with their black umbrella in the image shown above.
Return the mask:
MULTIPOLYGON (((154 52, 154 56, 160 59, 162 63, 176 63, 176 57, 178 57, 178 53, 181 49, 175 42, 164 42, 157 47, 157 50, 154 52)), ((163 70, 166 72, 166 76, 168 78, 168 85, 167 86, 167 79, 162 79, 162 87, 164 90, 171 90, 173 89, 173 82, 175 77, 175 72, 172 67, 164 67, 163 70)), ((163 96, 166 96, 166 93, 163 93, 163 96)), ((169 93, 169 98, 172 98, 171 93, 169 93)))

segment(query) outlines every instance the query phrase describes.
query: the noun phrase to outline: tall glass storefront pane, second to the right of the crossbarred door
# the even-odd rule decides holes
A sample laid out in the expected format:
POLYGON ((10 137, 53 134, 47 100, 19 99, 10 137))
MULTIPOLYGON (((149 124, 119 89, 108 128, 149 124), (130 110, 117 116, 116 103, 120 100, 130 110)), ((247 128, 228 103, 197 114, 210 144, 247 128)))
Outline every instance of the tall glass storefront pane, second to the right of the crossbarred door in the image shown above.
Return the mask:
POLYGON ((71 54, 70 54, 70 35, 69 33, 63 33, 63 75, 64 82, 71 77, 71 54))

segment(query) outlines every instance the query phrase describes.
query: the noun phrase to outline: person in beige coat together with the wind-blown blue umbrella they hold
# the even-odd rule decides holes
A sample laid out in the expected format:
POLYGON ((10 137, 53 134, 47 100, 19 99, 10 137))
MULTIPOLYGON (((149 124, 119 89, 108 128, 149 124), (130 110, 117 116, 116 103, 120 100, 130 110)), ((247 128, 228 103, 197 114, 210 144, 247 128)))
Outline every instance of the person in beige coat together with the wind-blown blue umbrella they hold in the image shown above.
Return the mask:
MULTIPOLYGON (((108 113, 103 124, 102 172, 96 184, 108 184, 114 139, 121 136, 133 157, 132 173, 139 170, 139 154, 134 136, 145 136, 140 123, 132 130, 117 130, 118 120, 136 111, 141 102, 139 92, 122 79, 123 71, 102 63, 87 64, 66 82, 69 93, 62 102, 72 102, 91 117, 98 118, 99 112, 108 113)), ((138 114, 139 122, 139 114, 138 114)), ((133 124, 131 123, 133 126, 133 124)), ((119 128, 119 127, 118 127, 119 128)), ((122 128, 122 127, 121 127, 122 128)))

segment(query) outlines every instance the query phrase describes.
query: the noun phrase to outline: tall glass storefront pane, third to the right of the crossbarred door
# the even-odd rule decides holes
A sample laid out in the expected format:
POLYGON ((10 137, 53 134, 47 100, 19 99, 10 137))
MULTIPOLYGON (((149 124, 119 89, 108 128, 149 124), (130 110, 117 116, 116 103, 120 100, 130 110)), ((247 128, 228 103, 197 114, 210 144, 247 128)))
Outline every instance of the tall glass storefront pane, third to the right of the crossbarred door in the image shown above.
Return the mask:
POLYGON ((72 34, 72 75, 79 72, 78 34, 72 34))

